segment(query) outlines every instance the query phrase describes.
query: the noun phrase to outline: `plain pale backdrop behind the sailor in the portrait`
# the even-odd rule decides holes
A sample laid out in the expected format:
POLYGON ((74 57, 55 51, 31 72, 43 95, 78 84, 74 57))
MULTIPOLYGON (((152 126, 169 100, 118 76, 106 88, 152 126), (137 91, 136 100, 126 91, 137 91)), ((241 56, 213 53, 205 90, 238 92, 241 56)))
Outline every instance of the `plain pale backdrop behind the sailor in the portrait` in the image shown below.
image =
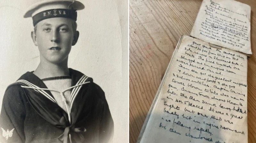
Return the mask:
MULTIPOLYGON (((114 143, 128 143, 128 1, 79 0, 78 42, 68 67, 92 77, 105 92, 114 120, 114 143)), ((30 33, 32 18, 23 18, 32 0, 0 2, 0 109, 7 86, 39 64, 30 33)))

